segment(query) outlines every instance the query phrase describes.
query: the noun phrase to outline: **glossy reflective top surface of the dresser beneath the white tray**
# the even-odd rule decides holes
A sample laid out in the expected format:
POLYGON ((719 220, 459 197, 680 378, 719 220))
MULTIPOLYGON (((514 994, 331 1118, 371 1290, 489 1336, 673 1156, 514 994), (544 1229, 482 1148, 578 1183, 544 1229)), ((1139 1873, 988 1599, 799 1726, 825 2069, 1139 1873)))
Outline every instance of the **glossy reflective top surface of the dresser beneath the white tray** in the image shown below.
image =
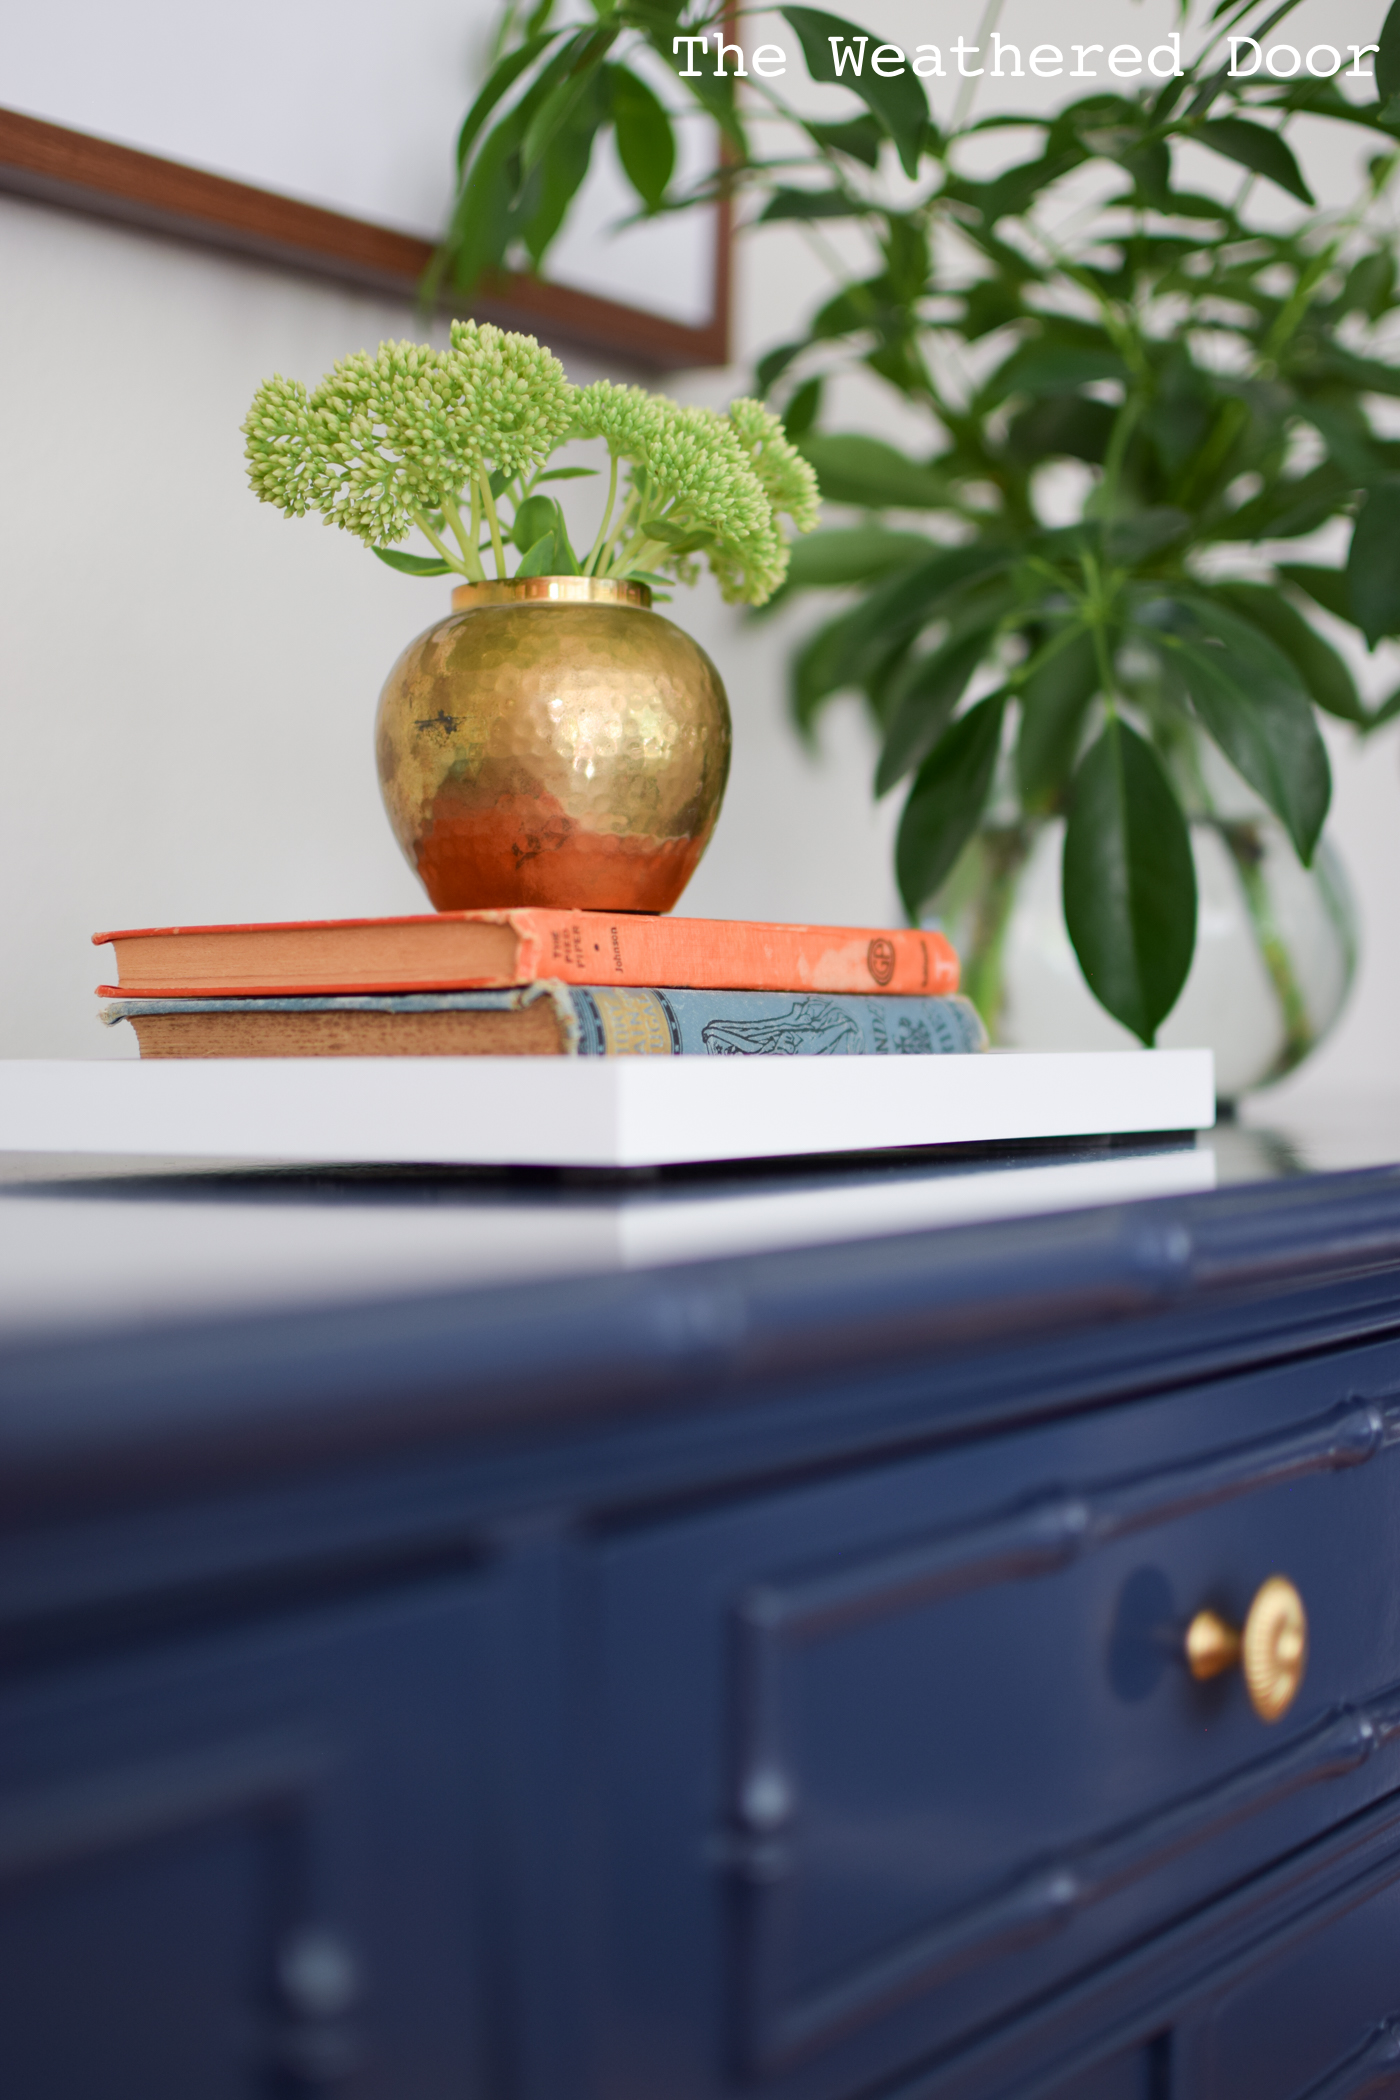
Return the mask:
POLYGON ((1182 1142, 623 1174, 0 1153, 0 1344, 625 1275, 1400 1163, 1400 1092, 1182 1142))

